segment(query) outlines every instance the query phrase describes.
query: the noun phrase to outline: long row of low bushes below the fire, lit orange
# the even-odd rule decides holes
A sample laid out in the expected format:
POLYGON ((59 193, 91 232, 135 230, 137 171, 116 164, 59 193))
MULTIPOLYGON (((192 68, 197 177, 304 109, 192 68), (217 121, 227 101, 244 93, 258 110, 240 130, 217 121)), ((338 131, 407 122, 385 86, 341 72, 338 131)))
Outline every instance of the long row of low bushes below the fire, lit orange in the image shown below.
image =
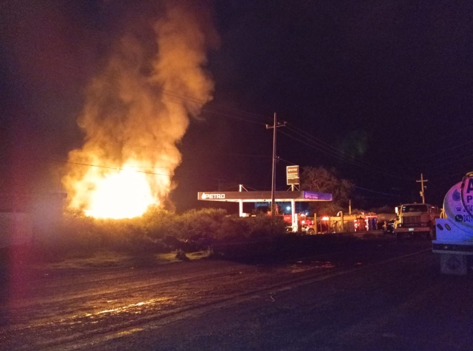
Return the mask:
POLYGON ((191 210, 182 215, 152 208, 133 219, 94 219, 65 213, 51 232, 38 235, 45 250, 97 252, 171 252, 206 249, 213 241, 238 241, 284 232, 282 220, 271 227, 271 217, 238 217, 225 210, 191 210), (197 245, 199 244, 199 245, 197 245))

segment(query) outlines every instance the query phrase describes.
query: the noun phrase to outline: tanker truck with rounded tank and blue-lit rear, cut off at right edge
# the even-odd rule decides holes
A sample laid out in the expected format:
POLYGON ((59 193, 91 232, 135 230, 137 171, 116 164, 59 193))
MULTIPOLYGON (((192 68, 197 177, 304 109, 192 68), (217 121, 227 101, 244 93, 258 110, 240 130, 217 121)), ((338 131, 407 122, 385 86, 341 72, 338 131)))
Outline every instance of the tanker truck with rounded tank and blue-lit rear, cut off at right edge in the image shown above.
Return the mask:
POLYGON ((444 211, 435 221, 432 252, 441 254, 441 273, 468 274, 473 262, 473 172, 445 196, 444 211))

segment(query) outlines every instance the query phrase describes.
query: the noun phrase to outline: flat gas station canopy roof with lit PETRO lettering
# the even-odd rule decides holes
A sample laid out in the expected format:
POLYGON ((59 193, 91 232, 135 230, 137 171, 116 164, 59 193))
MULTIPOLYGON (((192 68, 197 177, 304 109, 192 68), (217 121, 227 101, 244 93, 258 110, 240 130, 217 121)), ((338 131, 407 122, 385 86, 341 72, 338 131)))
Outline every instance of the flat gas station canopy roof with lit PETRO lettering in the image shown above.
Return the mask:
MULTIPOLYGON (((271 191, 199 192, 197 199, 222 202, 271 202, 271 191)), ((276 202, 332 201, 332 194, 315 191, 276 191, 276 202)))

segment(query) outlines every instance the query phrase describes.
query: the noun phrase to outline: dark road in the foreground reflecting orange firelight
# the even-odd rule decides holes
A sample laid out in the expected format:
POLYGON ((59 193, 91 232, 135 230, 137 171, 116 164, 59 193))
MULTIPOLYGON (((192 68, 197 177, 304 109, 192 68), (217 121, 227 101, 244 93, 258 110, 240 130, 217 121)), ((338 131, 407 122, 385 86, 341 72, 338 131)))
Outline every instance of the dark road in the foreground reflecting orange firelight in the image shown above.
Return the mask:
POLYGON ((473 280, 439 274, 430 242, 304 256, 38 269, 2 287, 0 350, 473 350, 473 280))

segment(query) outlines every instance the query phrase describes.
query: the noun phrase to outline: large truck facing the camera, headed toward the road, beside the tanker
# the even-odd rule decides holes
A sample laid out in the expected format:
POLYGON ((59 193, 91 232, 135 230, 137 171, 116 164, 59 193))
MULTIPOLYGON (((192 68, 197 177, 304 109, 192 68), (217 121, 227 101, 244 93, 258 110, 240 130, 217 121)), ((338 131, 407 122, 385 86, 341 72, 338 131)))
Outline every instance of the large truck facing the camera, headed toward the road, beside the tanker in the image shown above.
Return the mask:
POLYGON ((398 217, 393 232, 398 239, 407 236, 431 238, 435 230, 435 220, 440 216, 437 206, 430 204, 403 204, 396 208, 398 217))

